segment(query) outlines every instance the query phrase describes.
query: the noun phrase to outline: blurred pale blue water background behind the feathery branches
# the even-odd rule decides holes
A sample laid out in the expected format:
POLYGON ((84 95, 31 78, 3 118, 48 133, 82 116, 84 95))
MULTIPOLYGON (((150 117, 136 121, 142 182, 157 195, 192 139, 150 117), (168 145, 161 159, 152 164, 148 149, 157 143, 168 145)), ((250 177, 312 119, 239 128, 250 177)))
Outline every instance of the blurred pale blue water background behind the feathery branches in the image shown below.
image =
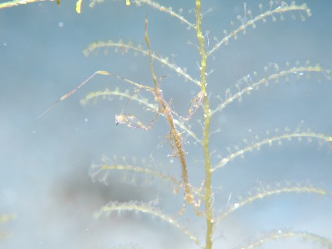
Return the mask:
MULTIPOLYGON (((1 1, 2 2, 2 1, 1 1)), ((161 1, 160 1, 161 2, 161 1)), ((280 1, 274 1, 275 6, 280 1)), ((258 15, 259 1, 248 1, 247 9, 258 15)), ((302 1, 298 1, 301 4, 302 1)), ((193 1, 162 1, 194 21, 193 1)), ((237 41, 222 46, 209 61, 209 90, 212 106, 216 106, 229 88, 236 91, 235 83, 244 76, 263 78, 264 66, 270 63, 295 66, 296 60, 304 65, 307 59, 312 64, 319 62, 326 69, 332 66, 332 2, 308 1, 312 17, 305 22, 299 13, 284 13, 285 20, 258 22, 257 28, 249 28, 246 35, 237 41)), ((244 1, 204 1, 204 29, 207 48, 212 48, 214 36, 223 38, 223 29, 231 31, 240 22, 237 15, 246 18, 244 1), (226 2, 226 3, 225 3, 226 2), (209 12, 209 8, 212 11, 209 12)), ((268 3, 263 10, 268 10, 268 3)), ((106 1, 89 8, 83 1, 82 13, 75 12, 75 1, 32 3, 0 10, 0 215, 15 213, 16 220, 0 224, 0 232, 8 232, 8 238, 0 241, 1 248, 112 248, 124 245, 137 248, 193 248, 186 237, 170 229, 170 226, 144 215, 125 214, 122 218, 95 220, 92 213, 113 200, 151 201, 157 197, 158 183, 149 187, 123 184, 110 177, 109 186, 92 183, 88 171, 92 162, 98 163, 102 155, 127 158, 153 156, 157 164, 171 173, 179 173, 176 159, 167 143, 167 124, 160 118, 151 131, 130 129, 115 125, 114 116, 125 106, 125 101, 98 101, 96 105, 81 106, 80 99, 96 90, 116 86, 128 88, 123 82, 106 76, 96 76, 78 92, 55 108, 36 118, 63 94, 83 82, 93 72, 105 70, 120 76, 151 84, 148 58, 134 56, 132 52, 121 55, 109 49, 99 55, 85 57, 83 50, 92 42, 132 41, 144 46, 144 19, 148 13, 148 33, 151 47, 159 55, 169 57, 181 67, 186 67, 193 78, 199 78, 198 52, 195 47, 195 32, 186 24, 158 10, 141 6, 125 6, 125 1, 106 1), (193 45, 188 45, 191 41, 193 45), (164 156, 163 156, 164 155, 164 156), (167 165, 166 165, 167 164, 167 165), (130 235, 128 237, 128 234, 130 235)), ((304 15, 304 14, 303 14, 304 15)), ((157 63, 156 63, 157 64, 157 63)), ((179 113, 185 113, 188 103, 198 91, 197 86, 184 82, 176 73, 157 66, 158 76, 167 101, 179 113)), ((208 70, 208 71, 209 71, 208 70)), ((273 73, 273 71, 271 71, 273 73)), ((284 79, 279 84, 270 83, 243 97, 221 113, 216 113, 212 131, 221 132, 212 136, 211 150, 216 155, 228 155, 228 148, 244 145, 247 138, 254 141, 258 135, 267 137, 266 130, 279 134, 285 127, 292 131, 308 128, 317 133, 332 135, 332 85, 322 74, 305 76, 300 80, 284 79)), ((132 101, 133 102, 133 101, 132 101)), ((142 115, 145 122, 153 116, 141 111, 141 106, 130 103, 125 112, 142 115)), ((193 116, 192 125, 200 136, 196 120, 202 113, 193 116)), ((202 156, 198 146, 187 138, 186 150, 190 178, 199 186, 202 180, 202 156)), ((331 143, 317 141, 298 143, 284 141, 282 146, 272 145, 260 151, 248 153, 244 159, 235 159, 214 176, 216 212, 226 208, 227 201, 243 195, 259 185, 284 180, 317 187, 332 192, 331 143)), ((164 170, 165 171, 165 170, 164 170)), ((116 175, 118 176, 118 175, 116 175)), ((165 187, 167 190, 167 187, 165 187)), ((172 192, 172 190, 170 190, 172 192)), ((172 194, 160 192, 159 204, 175 214, 181 209, 181 194, 178 204, 172 194), (170 201, 171 200, 171 201, 170 201)), ((196 222, 191 214, 179 218, 196 231, 204 241, 204 220, 196 222), (191 221, 188 222, 186 218, 191 221)), ((242 239, 255 239, 265 230, 289 229, 307 231, 332 239, 332 201, 329 197, 317 198, 310 194, 284 194, 269 197, 241 208, 226 218, 216 228, 215 244, 233 248, 242 239)), ((287 241, 289 248, 294 248, 287 241)), ((245 242, 244 242, 245 244, 245 242)), ((277 246, 276 246, 277 245, 277 246)), ((287 248, 282 244, 282 248, 287 248)), ((300 243, 302 248, 319 248, 314 243, 300 243)), ((270 243, 266 248, 280 248, 270 243)))

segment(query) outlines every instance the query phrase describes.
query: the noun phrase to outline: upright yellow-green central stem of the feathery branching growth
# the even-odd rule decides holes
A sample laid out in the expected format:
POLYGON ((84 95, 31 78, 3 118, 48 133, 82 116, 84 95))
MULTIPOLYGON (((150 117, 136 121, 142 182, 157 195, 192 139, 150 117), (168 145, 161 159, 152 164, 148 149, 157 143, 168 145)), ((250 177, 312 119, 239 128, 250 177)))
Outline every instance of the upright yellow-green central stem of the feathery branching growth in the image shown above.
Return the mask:
POLYGON ((205 238, 205 249, 212 248, 212 207, 211 207, 211 160, 209 156, 209 122, 210 122, 210 111, 209 111, 209 99, 207 98, 207 54, 205 51, 204 37, 202 36, 202 10, 200 0, 196 0, 196 34, 198 38, 198 48, 200 50, 200 87, 203 94, 203 111, 204 111, 204 131, 202 146, 204 150, 204 161, 205 161, 205 218, 207 222, 207 232, 205 238))

